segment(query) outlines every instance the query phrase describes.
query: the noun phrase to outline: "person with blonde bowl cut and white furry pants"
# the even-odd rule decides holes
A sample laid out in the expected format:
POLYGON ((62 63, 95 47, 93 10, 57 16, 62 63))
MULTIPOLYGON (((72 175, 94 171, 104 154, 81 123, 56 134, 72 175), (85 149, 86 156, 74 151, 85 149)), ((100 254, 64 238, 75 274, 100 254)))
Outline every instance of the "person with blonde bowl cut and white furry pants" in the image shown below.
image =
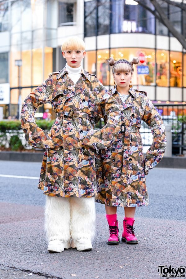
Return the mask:
POLYGON ((21 126, 29 144, 45 148, 38 188, 47 195, 45 231, 48 251, 70 247, 91 250, 95 235, 96 148, 110 146, 120 130, 116 100, 81 62, 85 43, 71 37, 62 44, 67 63, 24 101, 21 126), (51 102, 56 120, 50 133, 40 129, 34 113, 51 102), (107 125, 94 130, 106 114, 107 125), (112 133, 109 133, 109 130, 112 133))

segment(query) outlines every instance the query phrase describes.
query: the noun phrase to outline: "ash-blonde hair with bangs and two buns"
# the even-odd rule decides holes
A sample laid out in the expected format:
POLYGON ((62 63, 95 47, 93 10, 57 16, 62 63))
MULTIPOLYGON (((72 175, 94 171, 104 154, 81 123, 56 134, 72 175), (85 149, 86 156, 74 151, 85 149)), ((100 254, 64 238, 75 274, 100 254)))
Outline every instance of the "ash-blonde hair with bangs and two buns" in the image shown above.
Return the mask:
POLYGON ((138 64, 139 59, 138 57, 134 57, 131 62, 126 59, 120 59, 115 61, 113 57, 110 57, 108 63, 110 66, 113 66, 112 69, 113 75, 114 73, 125 73, 125 72, 129 72, 133 74, 134 73, 133 64, 138 64))

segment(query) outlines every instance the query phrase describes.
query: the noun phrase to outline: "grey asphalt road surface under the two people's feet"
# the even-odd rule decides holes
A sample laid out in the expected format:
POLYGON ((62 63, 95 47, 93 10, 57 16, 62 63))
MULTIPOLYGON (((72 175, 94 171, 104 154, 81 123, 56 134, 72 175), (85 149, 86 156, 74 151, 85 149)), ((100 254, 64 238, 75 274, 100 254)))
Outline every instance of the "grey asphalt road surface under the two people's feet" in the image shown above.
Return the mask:
MULTIPOLYGON (((45 196, 37 189, 40 163, 0 161, 0 278, 160 278, 159 265, 186 265, 185 177, 181 169, 155 168, 147 176, 150 206, 136 209, 139 244, 108 246, 104 206, 96 204, 92 251, 47 252, 45 196)), ((120 234, 123 209, 118 209, 120 234)))

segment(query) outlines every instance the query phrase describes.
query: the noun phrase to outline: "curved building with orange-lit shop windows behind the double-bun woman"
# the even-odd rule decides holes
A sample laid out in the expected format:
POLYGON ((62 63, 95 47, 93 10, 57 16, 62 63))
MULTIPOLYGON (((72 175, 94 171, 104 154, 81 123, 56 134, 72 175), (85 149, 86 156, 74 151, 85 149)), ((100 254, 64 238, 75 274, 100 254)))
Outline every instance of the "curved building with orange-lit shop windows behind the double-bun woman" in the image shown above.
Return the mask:
MULTIPOLYGON (((165 1, 159 2, 175 29, 186 37, 186 12, 165 1)), ((134 65, 133 85, 153 92, 150 97, 154 101, 185 102, 185 50, 145 8, 153 9, 151 2, 144 0, 143 4, 131 0, 84 2, 85 43, 89 47, 85 68, 110 87, 113 86, 110 56, 130 61, 134 56, 142 56, 141 62, 134 65)))

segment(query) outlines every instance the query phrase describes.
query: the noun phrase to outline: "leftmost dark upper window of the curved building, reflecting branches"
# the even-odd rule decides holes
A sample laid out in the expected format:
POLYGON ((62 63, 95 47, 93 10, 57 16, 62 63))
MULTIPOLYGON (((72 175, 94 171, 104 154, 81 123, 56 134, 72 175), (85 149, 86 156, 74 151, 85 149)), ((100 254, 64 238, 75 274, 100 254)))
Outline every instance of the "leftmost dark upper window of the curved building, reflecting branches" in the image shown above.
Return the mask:
POLYGON ((84 10, 84 33, 85 37, 91 37, 96 35, 96 1, 85 2, 84 10))

